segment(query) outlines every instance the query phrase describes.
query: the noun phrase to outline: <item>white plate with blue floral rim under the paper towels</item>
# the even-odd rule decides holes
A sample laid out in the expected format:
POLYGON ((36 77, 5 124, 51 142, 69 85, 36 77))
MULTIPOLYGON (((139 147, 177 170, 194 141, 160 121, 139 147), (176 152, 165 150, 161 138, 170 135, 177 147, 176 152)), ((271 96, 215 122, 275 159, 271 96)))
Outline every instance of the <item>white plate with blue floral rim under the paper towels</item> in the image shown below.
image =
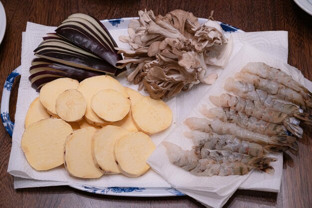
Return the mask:
MULTIPOLYGON (((5 15, 4 15, 5 16, 5 15)), ((106 19, 102 20, 102 23, 109 30, 127 30, 128 24, 131 19, 138 17, 127 17, 120 19, 106 19)), ((199 23, 205 23, 207 19, 198 18, 199 23)), ((218 22, 225 33, 231 32, 244 32, 229 24, 218 22)), ((5 28, 5 26, 4 26, 5 28)), ((21 67, 16 68, 5 80, 2 98, 1 98, 1 120, 10 136, 12 136, 14 123, 9 118, 9 96, 11 87, 16 76, 20 74, 21 67)), ((184 196, 183 193, 170 187, 91 187, 84 185, 72 185, 71 187, 94 194, 101 195, 114 195, 114 196, 127 196, 127 197, 172 197, 172 196, 184 196)))

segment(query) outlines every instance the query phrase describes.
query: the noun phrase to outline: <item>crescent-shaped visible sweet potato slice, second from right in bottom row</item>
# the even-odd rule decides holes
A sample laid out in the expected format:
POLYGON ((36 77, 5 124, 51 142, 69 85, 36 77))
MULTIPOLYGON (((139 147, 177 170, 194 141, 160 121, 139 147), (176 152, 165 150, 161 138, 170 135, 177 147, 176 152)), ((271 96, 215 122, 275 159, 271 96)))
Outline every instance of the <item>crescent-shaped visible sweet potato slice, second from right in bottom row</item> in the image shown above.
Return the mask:
POLYGON ((118 126, 105 126, 92 137, 92 157, 96 166, 105 174, 119 174, 114 147, 117 140, 130 132, 118 126))

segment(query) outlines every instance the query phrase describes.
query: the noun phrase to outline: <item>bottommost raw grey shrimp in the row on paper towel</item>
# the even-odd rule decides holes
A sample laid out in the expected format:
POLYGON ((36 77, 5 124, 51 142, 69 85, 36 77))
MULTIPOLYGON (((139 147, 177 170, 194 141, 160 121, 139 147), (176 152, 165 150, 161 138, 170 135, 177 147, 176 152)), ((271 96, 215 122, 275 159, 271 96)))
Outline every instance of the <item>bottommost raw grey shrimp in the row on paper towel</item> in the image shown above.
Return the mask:
MULTIPOLYGON (((268 159, 263 159, 262 157, 251 159, 250 163, 242 162, 223 162, 218 163, 214 157, 209 157, 208 152, 206 152, 206 157, 204 159, 198 159, 197 155, 194 155, 195 148, 192 150, 182 150, 179 146, 170 143, 162 142, 166 147, 166 153, 168 155, 169 161, 183 168, 186 171, 190 171, 193 175, 198 176, 228 176, 228 175, 244 175, 247 174, 251 169, 257 168, 259 170, 266 171, 267 173, 274 173, 273 167, 269 166, 268 159), (192 152, 192 153, 189 153, 192 152), (186 156, 185 156, 186 155, 186 156), (189 156, 192 155, 193 158, 189 160, 189 156), (197 161, 194 168, 194 162, 197 161), (189 164, 191 163, 191 165, 189 164), (188 167, 185 169, 185 167, 188 167)), ((197 150, 198 151, 198 150, 197 150)))

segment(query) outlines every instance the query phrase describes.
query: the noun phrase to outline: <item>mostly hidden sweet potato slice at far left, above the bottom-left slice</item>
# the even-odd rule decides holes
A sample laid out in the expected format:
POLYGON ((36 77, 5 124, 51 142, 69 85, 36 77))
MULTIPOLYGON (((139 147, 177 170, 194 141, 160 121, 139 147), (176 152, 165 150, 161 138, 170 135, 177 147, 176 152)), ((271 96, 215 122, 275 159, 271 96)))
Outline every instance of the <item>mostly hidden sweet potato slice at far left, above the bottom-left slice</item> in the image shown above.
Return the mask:
POLYGON ((50 114, 47 113, 43 105, 39 101, 39 97, 36 97, 28 108, 26 117, 25 117, 25 128, 30 124, 40 121, 42 119, 50 118, 50 114))

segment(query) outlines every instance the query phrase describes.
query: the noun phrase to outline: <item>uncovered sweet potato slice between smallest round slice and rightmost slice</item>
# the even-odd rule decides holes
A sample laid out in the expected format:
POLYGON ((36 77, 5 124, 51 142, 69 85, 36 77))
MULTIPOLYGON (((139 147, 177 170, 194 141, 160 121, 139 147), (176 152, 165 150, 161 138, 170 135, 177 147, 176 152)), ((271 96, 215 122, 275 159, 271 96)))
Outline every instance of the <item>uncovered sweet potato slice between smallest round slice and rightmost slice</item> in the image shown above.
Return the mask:
POLYGON ((113 89, 101 90, 91 98, 92 110, 97 116, 109 122, 125 118, 130 106, 130 99, 113 89))

